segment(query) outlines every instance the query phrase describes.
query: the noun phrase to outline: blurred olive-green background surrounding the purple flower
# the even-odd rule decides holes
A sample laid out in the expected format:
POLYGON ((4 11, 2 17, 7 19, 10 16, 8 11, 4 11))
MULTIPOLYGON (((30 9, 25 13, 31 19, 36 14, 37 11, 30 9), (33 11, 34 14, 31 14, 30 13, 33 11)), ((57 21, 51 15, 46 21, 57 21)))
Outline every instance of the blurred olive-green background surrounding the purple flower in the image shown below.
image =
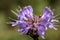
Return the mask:
MULTIPOLYGON (((17 19, 10 10, 15 10, 18 5, 21 8, 31 5, 35 15, 42 15, 45 6, 48 6, 54 11, 55 16, 58 15, 55 19, 60 20, 60 0, 0 0, 0 40, 33 40, 28 35, 20 35, 17 32, 18 27, 6 23, 12 21, 8 17, 17 19)), ((60 23, 55 26, 58 30, 49 29, 45 40, 60 40, 60 23)), ((43 39, 39 37, 39 40, 43 39)))

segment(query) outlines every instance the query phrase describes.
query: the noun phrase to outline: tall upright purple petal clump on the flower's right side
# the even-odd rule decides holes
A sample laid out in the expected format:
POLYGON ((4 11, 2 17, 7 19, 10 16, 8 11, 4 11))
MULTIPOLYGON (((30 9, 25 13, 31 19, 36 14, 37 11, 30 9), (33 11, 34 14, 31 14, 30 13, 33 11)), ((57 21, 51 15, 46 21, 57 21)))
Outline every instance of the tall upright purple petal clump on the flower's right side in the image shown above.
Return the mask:
POLYGON ((50 28, 50 26, 51 26, 50 23, 51 23, 51 21, 53 19, 53 12, 51 11, 50 8, 46 7, 44 9, 44 12, 43 12, 43 15, 42 15, 41 19, 42 19, 42 23, 41 24, 43 24, 46 29, 47 29, 47 27, 50 28))

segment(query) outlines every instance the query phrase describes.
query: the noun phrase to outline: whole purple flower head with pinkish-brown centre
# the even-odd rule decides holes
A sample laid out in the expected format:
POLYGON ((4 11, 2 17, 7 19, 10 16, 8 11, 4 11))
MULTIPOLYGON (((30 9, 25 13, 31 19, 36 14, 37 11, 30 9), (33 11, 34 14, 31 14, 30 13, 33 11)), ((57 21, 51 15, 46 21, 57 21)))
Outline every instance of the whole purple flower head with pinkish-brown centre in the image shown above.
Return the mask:
POLYGON ((23 9, 20 9, 18 20, 13 22, 12 26, 18 25, 18 32, 23 34, 27 34, 29 29, 37 30, 38 35, 44 39, 45 32, 48 28, 57 30, 53 22, 58 22, 58 20, 54 20, 53 18, 53 12, 48 7, 45 7, 42 16, 36 16, 33 14, 33 8, 31 6, 25 6, 23 9))

